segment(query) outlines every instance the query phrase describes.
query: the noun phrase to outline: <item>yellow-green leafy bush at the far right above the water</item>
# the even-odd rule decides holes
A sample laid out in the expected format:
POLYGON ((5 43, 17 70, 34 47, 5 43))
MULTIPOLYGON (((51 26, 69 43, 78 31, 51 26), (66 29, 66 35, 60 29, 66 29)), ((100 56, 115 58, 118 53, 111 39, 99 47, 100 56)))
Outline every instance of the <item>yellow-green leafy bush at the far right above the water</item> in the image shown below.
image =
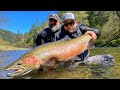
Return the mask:
POLYGON ((110 12, 108 21, 101 27, 101 45, 109 46, 112 40, 120 38, 120 20, 116 13, 110 12))

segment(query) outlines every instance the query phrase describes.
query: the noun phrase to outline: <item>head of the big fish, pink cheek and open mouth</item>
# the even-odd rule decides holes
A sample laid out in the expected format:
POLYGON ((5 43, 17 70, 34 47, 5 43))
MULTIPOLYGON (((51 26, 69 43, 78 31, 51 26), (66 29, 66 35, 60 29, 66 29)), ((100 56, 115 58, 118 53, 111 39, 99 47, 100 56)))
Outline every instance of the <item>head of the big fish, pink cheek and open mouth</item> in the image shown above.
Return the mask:
POLYGON ((22 57, 8 65, 5 70, 12 71, 8 77, 22 76, 39 67, 39 60, 35 56, 22 57))

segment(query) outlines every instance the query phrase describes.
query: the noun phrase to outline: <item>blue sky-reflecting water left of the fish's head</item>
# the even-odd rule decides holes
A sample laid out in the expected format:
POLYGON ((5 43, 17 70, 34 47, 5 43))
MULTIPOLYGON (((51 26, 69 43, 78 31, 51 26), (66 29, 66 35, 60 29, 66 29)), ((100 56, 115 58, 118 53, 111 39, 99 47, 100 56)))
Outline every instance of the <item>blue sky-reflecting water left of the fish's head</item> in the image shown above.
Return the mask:
POLYGON ((0 52, 0 79, 10 78, 6 76, 8 72, 4 71, 4 68, 13 63, 26 52, 28 52, 28 50, 10 50, 0 52))

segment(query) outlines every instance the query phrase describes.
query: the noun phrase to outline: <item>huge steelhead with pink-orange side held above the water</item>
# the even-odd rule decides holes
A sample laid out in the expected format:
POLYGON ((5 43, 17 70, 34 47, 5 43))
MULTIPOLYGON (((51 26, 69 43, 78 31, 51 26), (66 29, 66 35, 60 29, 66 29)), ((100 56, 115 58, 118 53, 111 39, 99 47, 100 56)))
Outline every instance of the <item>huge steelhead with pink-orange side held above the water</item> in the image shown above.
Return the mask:
POLYGON ((8 65, 5 70, 13 70, 8 76, 14 77, 44 66, 53 67, 57 62, 68 61, 91 48, 91 38, 90 35, 82 35, 67 41, 59 40, 37 46, 8 65))

